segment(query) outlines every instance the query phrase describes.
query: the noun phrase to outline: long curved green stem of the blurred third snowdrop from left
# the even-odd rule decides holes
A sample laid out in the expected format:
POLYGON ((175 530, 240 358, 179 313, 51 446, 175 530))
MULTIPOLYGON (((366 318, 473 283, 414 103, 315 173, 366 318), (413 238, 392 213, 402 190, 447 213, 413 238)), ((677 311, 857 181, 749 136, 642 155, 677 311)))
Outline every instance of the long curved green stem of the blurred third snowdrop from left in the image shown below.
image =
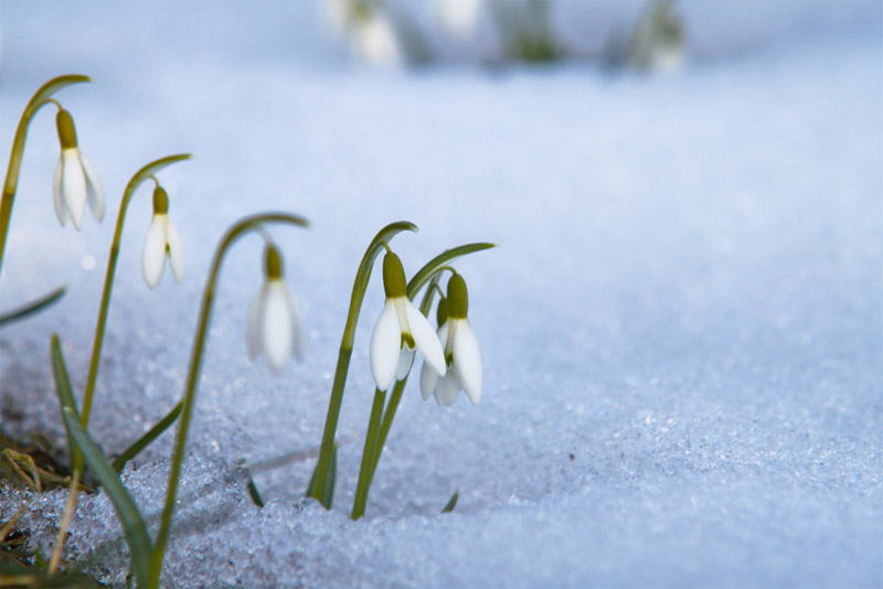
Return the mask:
POLYGON ((190 419, 193 414, 193 406, 195 405, 196 384, 200 379, 200 372, 202 370, 202 353, 205 350, 205 339, 209 335, 209 323, 212 315, 212 306, 214 303, 214 289, 217 283, 217 276, 221 270, 221 263, 224 255, 233 245, 233 243, 242 237, 248 231, 255 231, 264 223, 288 223, 291 225, 300 225, 306 227, 309 225, 307 219, 300 216, 290 215, 288 213, 264 213, 251 215, 236 222, 215 249, 214 258, 212 260, 212 268, 209 271, 209 279, 205 282, 205 289, 202 296, 202 308, 200 309, 200 321, 196 328, 196 336, 193 340, 193 351, 190 357, 190 372, 187 379, 187 390, 184 392, 183 410, 181 411, 181 425, 178 428, 178 436, 175 437, 174 454, 172 457, 172 468, 169 473, 169 486, 166 491, 166 506, 162 510, 162 521, 157 535, 156 547, 153 550, 153 563, 150 570, 150 587, 159 587, 160 571, 162 570, 162 557, 166 551, 166 543, 169 538, 169 532, 172 524, 172 513, 174 512, 174 501, 178 494, 178 480, 181 474, 181 464, 184 459, 184 445, 187 443, 187 433, 190 428, 190 419))

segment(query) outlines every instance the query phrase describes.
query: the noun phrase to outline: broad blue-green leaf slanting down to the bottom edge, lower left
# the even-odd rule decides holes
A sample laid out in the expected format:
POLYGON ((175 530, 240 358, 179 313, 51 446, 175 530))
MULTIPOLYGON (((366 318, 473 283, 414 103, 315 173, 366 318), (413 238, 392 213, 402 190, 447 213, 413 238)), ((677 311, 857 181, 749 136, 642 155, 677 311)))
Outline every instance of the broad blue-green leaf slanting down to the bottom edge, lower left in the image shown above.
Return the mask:
POLYGON ((126 542, 131 553, 132 568, 138 578, 138 587, 148 587, 153 546, 150 544, 150 536, 147 534, 145 520, 141 517, 141 513, 138 511, 135 500, 132 500, 129 492, 126 491, 126 488, 123 485, 114 468, 107 461, 107 458, 105 458, 102 449, 98 448, 98 445, 95 443, 88 432, 79 424, 79 417, 76 415, 76 411, 71 407, 65 407, 63 415, 67 432, 74 437, 76 445, 83 452, 83 457, 86 459, 86 463, 89 465, 89 469, 92 469, 92 472, 95 473, 95 476, 102 483, 105 491, 107 491, 110 501, 114 503, 117 517, 119 517, 123 529, 126 533, 126 542))

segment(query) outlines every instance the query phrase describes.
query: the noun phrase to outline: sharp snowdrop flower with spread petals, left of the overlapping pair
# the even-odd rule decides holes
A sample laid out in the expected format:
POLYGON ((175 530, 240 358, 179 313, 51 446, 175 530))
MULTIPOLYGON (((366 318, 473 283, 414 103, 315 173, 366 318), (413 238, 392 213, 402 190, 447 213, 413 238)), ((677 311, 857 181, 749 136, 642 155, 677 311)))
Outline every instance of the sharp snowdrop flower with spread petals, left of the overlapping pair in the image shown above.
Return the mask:
POLYGON ((445 374, 445 354, 433 326, 407 298, 405 270, 398 256, 387 251, 383 258, 383 288, 386 303, 371 333, 371 375, 380 390, 407 376, 414 349, 438 375, 445 374))

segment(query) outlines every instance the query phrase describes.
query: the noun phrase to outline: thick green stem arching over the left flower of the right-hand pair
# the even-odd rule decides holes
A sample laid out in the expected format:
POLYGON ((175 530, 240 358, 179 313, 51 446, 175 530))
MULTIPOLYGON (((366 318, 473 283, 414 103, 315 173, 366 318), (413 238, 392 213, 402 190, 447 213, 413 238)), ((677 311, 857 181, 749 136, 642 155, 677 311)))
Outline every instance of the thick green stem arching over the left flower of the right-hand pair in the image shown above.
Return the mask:
MULTIPOLYGON (((359 321, 359 312, 362 309, 362 300, 365 298, 365 290, 368 289, 368 281, 371 278, 371 269, 374 266, 374 259, 383 251, 383 246, 392 237, 403 231, 416 232, 417 226, 406 221, 391 223, 383 227, 371 245, 368 246, 365 255, 359 265, 359 271, 355 275, 355 281, 352 285, 352 296, 350 297, 350 312, 347 315, 347 324, 343 328, 343 338, 340 343, 340 353, 338 355, 338 367, 334 372, 334 382, 331 385, 331 397, 328 399, 328 414, 325 419, 325 430, 322 431, 322 447, 319 450, 319 462, 316 465, 316 484, 312 488, 310 496, 322 501, 325 496, 325 489, 328 484, 328 472, 331 465, 331 454, 334 450, 334 433, 338 429, 338 418, 340 417, 340 407, 343 404, 343 388, 347 385, 347 372, 350 367, 350 356, 352 355, 352 344, 355 340, 355 324, 359 321)), ((325 503, 322 503, 325 505, 325 503)), ((329 505, 325 505, 329 507, 329 505)))

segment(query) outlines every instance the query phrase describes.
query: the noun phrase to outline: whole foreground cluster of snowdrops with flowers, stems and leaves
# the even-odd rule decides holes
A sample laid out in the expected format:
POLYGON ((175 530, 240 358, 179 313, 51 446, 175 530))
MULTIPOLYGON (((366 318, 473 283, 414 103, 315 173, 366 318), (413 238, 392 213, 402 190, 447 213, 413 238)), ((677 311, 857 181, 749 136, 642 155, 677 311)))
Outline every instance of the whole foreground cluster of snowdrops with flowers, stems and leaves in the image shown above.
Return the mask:
MULTIPOLYGON (((100 222, 104 217, 105 195, 98 175, 79 151, 73 117, 53 97, 60 89, 84 82, 91 82, 91 78, 82 75, 65 75, 53 78, 34 94, 24 109, 15 132, 2 202, 0 203, 0 270, 2 269, 2 258, 28 128, 34 115, 44 106, 52 104, 57 107, 56 127, 61 143, 61 157, 55 168, 53 196, 58 222, 62 226, 70 222, 78 231, 83 224, 87 207, 92 211, 96 221, 100 222)), ((234 223, 226 231, 215 249, 203 290, 199 322, 181 401, 153 428, 113 460, 107 458, 89 433, 88 420, 126 211, 138 186, 143 182, 152 182, 153 215, 145 237, 141 256, 143 278, 150 288, 156 287, 162 277, 166 261, 168 260, 171 274, 180 281, 184 274, 184 248, 179 233, 169 216, 169 194, 162 188, 157 174, 164 168, 189 158, 190 154, 175 154, 148 163, 132 175, 124 191, 107 261, 102 302, 93 340, 89 372, 82 397, 75 394, 71 385, 57 335, 53 334, 50 342, 51 368, 62 419, 67 431, 71 468, 68 501, 49 565, 51 574, 60 567, 66 529, 76 510, 78 494, 83 489, 83 475, 88 469, 114 503, 129 545, 131 572, 138 586, 156 587, 159 585, 164 548, 172 525, 188 428, 195 406, 202 354, 208 339, 219 274, 226 251, 243 235, 256 233, 265 240, 264 258, 262 260, 265 280, 252 304, 246 325, 249 357, 255 360, 263 355, 274 371, 279 371, 291 356, 299 358, 304 354, 304 319, 297 300, 284 279, 285 263, 283 253, 273 242, 268 228, 274 225, 307 227, 308 222, 298 215, 286 212, 268 212, 246 216, 234 223), (77 397, 82 398, 82 403, 77 403, 77 397), (123 484, 119 473, 127 461, 131 460, 175 422, 178 424, 178 432, 166 492, 164 508, 159 531, 156 537, 151 539, 145 517, 123 484)), ((392 250, 390 242, 400 232, 416 229, 417 227, 408 222, 396 222, 383 227, 369 245, 358 268, 329 399, 319 459, 306 492, 307 496, 318 500, 322 505, 330 508, 337 470, 334 436, 355 339, 355 324, 374 261, 380 254, 384 254, 383 287, 386 299, 374 325, 370 342, 371 373, 376 384, 376 390, 365 433, 361 470, 352 508, 352 517, 354 520, 364 514, 374 472, 398 407, 402 392, 414 364, 416 352, 419 352, 423 356, 419 387, 424 399, 434 396, 439 404, 450 405, 457 399, 459 392, 465 390, 471 403, 477 404, 481 396, 482 361, 478 341, 469 326, 467 285, 462 276, 450 264, 459 256, 488 249, 493 245, 475 243, 446 249, 424 265, 409 280, 406 280, 402 263, 392 250), (446 288, 443 288, 445 277, 447 277, 447 285, 446 288), (423 296, 419 302, 415 304, 421 292, 423 292, 423 296), (437 328, 433 328, 427 315, 436 296, 438 296, 438 304, 436 307, 437 328)), ((63 289, 26 304, 13 313, 8 313, 0 318, 0 321, 24 319, 56 301, 61 294, 63 294, 63 289)), ((253 496, 255 495, 257 495, 256 492, 253 496)), ((256 502, 259 503, 259 495, 257 495, 256 502)), ((454 508, 455 503, 456 493, 446 510, 454 508)))

